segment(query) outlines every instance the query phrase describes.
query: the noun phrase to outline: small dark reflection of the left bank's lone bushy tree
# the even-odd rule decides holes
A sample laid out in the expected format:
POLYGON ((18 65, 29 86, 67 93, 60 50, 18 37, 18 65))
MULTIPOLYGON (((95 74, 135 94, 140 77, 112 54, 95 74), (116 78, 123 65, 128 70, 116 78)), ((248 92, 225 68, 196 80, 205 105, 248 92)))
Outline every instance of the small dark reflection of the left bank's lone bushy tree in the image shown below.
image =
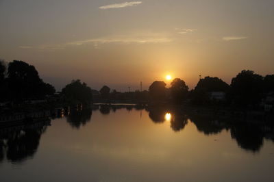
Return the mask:
POLYGON ((66 121, 69 122, 71 127, 79 129, 81 126, 86 125, 90 121, 92 115, 91 109, 83 109, 82 111, 72 110, 69 116, 66 116, 66 121))

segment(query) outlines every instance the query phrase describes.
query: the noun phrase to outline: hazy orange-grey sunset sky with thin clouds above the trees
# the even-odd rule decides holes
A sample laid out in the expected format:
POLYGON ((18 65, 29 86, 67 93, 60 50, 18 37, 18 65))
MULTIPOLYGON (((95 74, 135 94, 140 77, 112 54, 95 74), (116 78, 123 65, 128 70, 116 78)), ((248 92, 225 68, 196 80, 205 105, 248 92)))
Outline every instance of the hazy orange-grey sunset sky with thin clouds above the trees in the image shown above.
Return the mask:
POLYGON ((272 0, 0 0, 0 58, 32 64, 57 90, 147 89, 166 75, 193 88, 274 70, 272 0))

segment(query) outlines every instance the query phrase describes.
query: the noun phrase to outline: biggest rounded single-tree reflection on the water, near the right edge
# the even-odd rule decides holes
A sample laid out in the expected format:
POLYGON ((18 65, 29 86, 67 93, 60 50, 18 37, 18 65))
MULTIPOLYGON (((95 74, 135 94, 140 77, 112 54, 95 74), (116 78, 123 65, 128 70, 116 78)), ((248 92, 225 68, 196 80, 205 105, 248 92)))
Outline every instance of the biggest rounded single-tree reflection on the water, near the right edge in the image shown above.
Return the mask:
POLYGON ((244 123, 232 126, 230 132, 241 148, 253 152, 260 151, 264 141, 264 133, 260 126, 244 123))

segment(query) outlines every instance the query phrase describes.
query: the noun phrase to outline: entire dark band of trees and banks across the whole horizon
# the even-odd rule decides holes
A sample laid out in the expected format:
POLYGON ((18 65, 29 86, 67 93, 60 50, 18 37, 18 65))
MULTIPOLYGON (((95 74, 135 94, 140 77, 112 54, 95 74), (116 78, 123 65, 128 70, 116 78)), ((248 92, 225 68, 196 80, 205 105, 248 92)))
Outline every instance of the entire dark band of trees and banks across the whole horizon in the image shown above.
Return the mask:
POLYGON ((274 120, 274 75, 262 77, 242 70, 230 85, 217 77, 204 77, 192 90, 184 80, 175 78, 170 88, 164 81, 154 81, 149 90, 134 92, 117 92, 108 86, 97 91, 77 79, 55 92, 51 84, 40 79, 34 66, 0 61, 0 124, 68 114, 71 109, 94 107, 96 103, 177 108, 247 122, 270 122, 274 120))

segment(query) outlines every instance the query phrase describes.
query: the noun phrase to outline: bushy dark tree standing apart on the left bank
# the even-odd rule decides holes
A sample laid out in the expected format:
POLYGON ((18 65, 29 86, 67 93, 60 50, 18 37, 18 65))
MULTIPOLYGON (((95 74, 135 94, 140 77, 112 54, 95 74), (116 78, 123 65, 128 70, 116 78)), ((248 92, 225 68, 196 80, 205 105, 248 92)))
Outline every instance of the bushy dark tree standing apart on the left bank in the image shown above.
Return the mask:
POLYGON ((68 85, 62 88, 62 94, 69 103, 84 103, 88 104, 92 101, 92 90, 86 86, 86 83, 81 83, 79 79, 71 81, 68 85))

